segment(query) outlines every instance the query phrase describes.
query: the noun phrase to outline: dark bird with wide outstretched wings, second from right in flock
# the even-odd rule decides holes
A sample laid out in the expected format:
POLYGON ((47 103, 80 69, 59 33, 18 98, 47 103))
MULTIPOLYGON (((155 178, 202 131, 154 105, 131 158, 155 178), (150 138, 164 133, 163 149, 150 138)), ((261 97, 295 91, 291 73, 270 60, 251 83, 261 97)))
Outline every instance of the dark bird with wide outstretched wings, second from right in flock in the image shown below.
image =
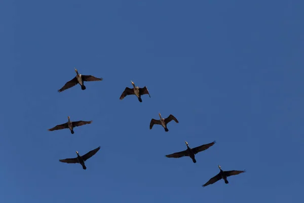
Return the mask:
POLYGON ((192 161, 194 163, 196 163, 195 154, 208 149, 209 147, 213 146, 216 142, 213 141, 212 143, 209 143, 209 144, 206 144, 206 145, 201 145, 199 147, 195 147, 195 148, 192 148, 192 149, 188 146, 188 143, 186 141, 185 141, 185 143, 187 145, 186 150, 181 151, 181 152, 176 152, 176 153, 173 153, 173 154, 169 154, 169 155, 165 155, 165 156, 168 157, 168 158, 180 158, 180 157, 183 157, 183 156, 189 156, 190 158, 192 158, 192 161))

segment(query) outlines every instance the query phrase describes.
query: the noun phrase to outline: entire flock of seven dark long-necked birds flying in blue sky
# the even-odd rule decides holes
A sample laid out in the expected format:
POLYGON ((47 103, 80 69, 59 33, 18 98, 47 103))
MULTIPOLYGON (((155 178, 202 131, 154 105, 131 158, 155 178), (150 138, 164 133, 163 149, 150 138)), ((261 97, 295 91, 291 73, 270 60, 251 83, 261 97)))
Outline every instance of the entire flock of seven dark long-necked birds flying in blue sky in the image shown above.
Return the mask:
MULTIPOLYGON (((102 78, 96 78, 96 77, 91 76, 91 75, 81 75, 81 74, 78 73, 77 69, 75 69, 75 72, 76 72, 77 75, 72 80, 65 83, 65 85, 61 89, 58 90, 58 92, 62 92, 62 91, 66 90, 68 88, 71 88, 71 87, 73 87, 77 84, 80 84, 81 89, 85 90, 86 89, 86 86, 84 85, 85 81, 89 82, 89 81, 102 81, 103 80, 102 78)), ((140 102, 142 102, 141 95, 148 94, 149 97, 151 97, 146 86, 144 86, 143 88, 140 88, 138 86, 135 86, 134 82, 131 81, 131 83, 133 85, 133 88, 126 87, 126 89, 123 91, 122 95, 120 96, 121 100, 123 98, 125 98, 127 95, 136 95, 140 102)), ((159 113, 159 116, 160 116, 159 120, 156 120, 154 118, 151 119, 150 129, 152 129, 152 127, 155 124, 157 124, 157 125, 162 125, 164 127, 165 131, 168 132, 169 129, 167 128, 167 124, 170 121, 174 120, 176 123, 178 123, 178 120, 172 114, 170 114, 167 118, 162 118, 161 113, 159 113)), ((69 116, 67 118, 68 118, 68 121, 66 123, 56 125, 55 127, 50 128, 48 130, 53 131, 53 130, 60 130, 60 129, 68 128, 70 130, 70 132, 73 134, 74 133, 74 130, 73 130, 74 127, 78 127, 78 126, 82 126, 82 125, 92 123, 92 121, 82 121, 82 120, 71 121, 69 116)), ((173 154, 168 154, 168 155, 166 155, 166 157, 168 157, 168 158, 180 158, 180 157, 188 156, 192 159, 192 161, 194 163, 196 163, 197 161, 195 159, 195 155, 197 153, 202 152, 204 150, 207 150, 209 147, 213 146, 215 144, 215 141, 212 142, 212 143, 208 143, 208 144, 205 144, 205 145, 195 147, 195 148, 190 148, 187 142, 185 142, 185 144, 187 146, 186 150, 176 152, 176 153, 173 153, 173 154)), ((85 161, 88 160, 89 158, 91 158, 93 155, 95 155, 99 151, 99 149, 100 149, 100 146, 97 147, 96 149, 93 149, 93 150, 89 151, 88 153, 86 153, 83 156, 80 156, 78 151, 76 151, 77 157, 59 159, 59 161, 63 162, 63 163, 80 163, 82 165, 83 169, 86 170, 87 167, 85 165, 85 161)), ((215 183, 215 182, 217 182, 221 179, 223 179, 224 182, 226 184, 228 184, 229 182, 227 181, 227 177, 238 175, 238 174, 241 174, 241 173, 245 172, 245 170, 244 171, 236 171, 236 170, 223 171, 221 169, 220 165, 218 165, 218 168, 219 168, 220 172, 216 176, 212 177, 204 185, 202 185, 203 187, 205 187, 207 185, 210 185, 210 184, 213 184, 213 183, 215 183)))

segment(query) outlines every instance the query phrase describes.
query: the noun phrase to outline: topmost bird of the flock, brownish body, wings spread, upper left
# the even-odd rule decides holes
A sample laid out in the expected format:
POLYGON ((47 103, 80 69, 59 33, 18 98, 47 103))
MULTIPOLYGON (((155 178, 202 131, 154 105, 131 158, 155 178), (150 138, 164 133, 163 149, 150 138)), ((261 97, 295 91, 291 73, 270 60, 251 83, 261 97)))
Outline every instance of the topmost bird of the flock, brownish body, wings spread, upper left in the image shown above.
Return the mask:
MULTIPOLYGON (((75 68, 74 68, 75 69, 75 68)), ((80 84, 81 86, 81 89, 82 90, 85 90, 86 89, 86 86, 84 85, 85 81, 102 81, 103 78, 96 78, 94 76, 91 76, 91 75, 88 75, 88 76, 85 76, 85 75, 81 75, 78 73, 78 70, 75 69, 75 72, 76 72, 76 76, 71 79, 70 81, 68 81, 67 83, 65 83, 65 85, 58 90, 58 92, 62 92, 68 88, 71 88, 77 84, 80 84)))

